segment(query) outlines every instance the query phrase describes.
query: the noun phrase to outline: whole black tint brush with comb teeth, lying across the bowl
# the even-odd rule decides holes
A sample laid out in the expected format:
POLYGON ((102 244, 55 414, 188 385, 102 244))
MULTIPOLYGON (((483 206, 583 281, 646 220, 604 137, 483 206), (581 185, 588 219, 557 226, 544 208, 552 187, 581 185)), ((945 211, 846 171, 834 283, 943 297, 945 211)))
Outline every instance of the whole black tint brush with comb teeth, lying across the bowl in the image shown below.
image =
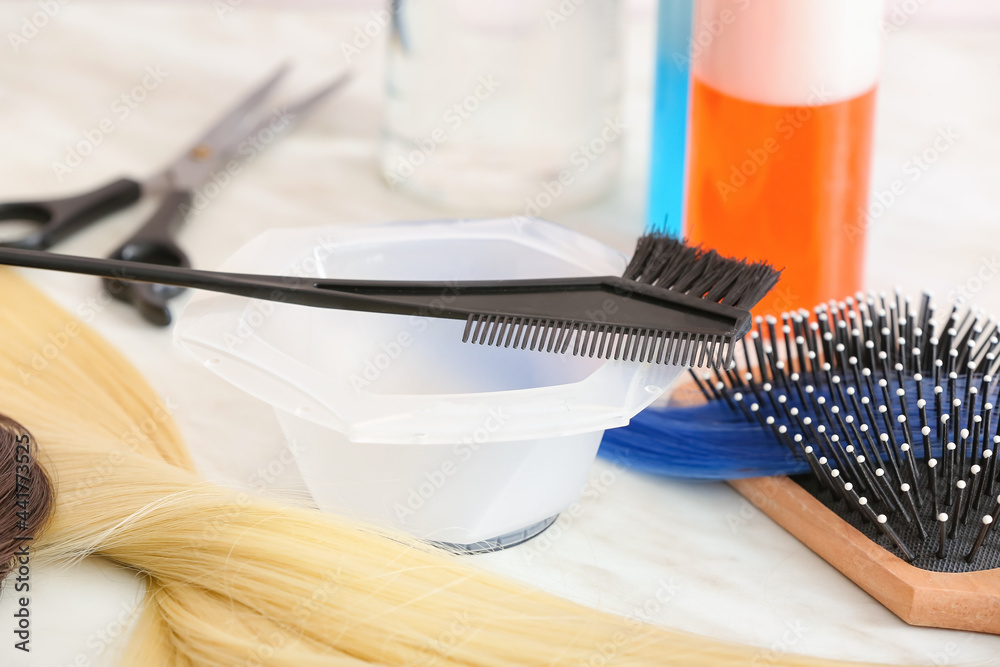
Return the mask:
POLYGON ((351 281, 198 271, 0 248, 0 264, 191 287, 319 308, 465 320, 463 341, 681 366, 728 366, 770 265, 662 234, 639 239, 622 277, 351 281), (442 292, 449 294, 444 303, 442 292), (599 316, 599 317, 598 317, 599 316))

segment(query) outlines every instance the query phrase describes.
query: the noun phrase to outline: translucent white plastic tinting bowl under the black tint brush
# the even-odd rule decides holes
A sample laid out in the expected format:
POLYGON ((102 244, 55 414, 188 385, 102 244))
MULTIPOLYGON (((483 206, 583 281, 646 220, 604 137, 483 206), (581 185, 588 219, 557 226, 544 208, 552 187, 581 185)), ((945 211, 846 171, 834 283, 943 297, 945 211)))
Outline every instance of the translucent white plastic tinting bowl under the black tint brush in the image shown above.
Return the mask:
MULTIPOLYGON (((220 270, 486 280, 621 275, 625 264, 563 227, 503 218, 275 230, 220 270)), ((680 370, 463 343, 464 326, 202 293, 174 331, 212 372, 274 408, 320 508, 498 548, 576 500, 604 430, 628 423, 680 370)))

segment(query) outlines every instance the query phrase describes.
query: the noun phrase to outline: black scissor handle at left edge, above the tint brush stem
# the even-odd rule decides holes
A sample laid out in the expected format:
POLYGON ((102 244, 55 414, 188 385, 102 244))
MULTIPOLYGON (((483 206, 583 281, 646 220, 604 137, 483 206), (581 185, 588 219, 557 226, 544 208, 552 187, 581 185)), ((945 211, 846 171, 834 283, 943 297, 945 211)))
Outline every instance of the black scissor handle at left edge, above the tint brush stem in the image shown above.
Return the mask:
POLYGON ((72 197, 0 204, 0 222, 19 221, 34 225, 34 229, 23 237, 0 242, 0 246, 48 250, 95 220, 134 204, 141 196, 142 185, 129 178, 120 178, 72 197))

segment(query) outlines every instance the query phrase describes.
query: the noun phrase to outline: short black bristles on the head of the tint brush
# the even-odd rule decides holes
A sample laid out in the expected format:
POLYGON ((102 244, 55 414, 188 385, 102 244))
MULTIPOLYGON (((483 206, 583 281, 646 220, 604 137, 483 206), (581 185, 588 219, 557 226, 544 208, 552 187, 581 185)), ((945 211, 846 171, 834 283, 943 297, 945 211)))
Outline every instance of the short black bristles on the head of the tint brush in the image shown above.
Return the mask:
POLYGON ((622 277, 750 310, 777 284, 781 271, 766 262, 723 257, 652 233, 636 243, 622 277))

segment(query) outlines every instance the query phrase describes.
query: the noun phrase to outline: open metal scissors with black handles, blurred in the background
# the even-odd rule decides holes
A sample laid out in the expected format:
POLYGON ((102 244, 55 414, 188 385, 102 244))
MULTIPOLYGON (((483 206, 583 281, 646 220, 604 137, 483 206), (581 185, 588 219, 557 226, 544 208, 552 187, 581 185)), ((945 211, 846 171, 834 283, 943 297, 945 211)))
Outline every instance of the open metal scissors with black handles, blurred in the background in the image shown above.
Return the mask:
MULTIPOLYGON (((186 214, 191 211, 192 194, 220 168, 225 168, 245 142, 266 132, 278 135, 347 81, 345 73, 281 112, 281 130, 274 130, 275 115, 261 116, 261 105, 288 72, 278 68, 263 83, 247 94, 212 127, 163 171, 137 181, 119 178, 82 194, 60 199, 0 203, 0 227, 29 231, 17 239, 6 236, 0 246, 27 250, 48 250, 66 237, 93 222, 124 209, 145 196, 159 196, 160 205, 153 215, 111 255, 112 259, 190 267, 191 262, 173 236, 186 214)), ((269 141, 269 140, 265 140, 269 141)), ((254 146, 259 146, 256 141, 254 146)), ((7 231, 11 231, 8 229, 7 231)), ((127 276, 123 276, 127 277, 127 276)), ((104 278, 104 289, 115 299, 130 303, 144 319, 158 326, 170 324, 167 301, 183 288, 127 280, 104 278)))

